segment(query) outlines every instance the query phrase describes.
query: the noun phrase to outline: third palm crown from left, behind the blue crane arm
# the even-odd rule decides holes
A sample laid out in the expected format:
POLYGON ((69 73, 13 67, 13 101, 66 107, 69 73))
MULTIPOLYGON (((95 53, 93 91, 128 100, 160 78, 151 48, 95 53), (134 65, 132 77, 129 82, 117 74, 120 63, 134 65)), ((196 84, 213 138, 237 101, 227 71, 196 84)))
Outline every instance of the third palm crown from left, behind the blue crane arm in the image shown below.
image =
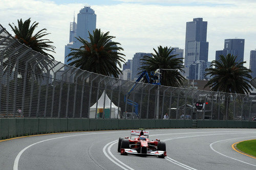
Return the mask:
MULTIPOLYGON (((155 54, 151 56, 144 56, 141 59, 143 62, 139 69, 143 72, 146 70, 147 72, 155 71, 156 69, 173 69, 173 70, 162 70, 161 71, 161 85, 165 86, 173 86, 179 87, 183 84, 185 78, 180 74, 180 72, 176 70, 180 70, 184 72, 183 68, 183 58, 175 58, 177 55, 170 55, 173 51, 173 48, 168 48, 167 46, 162 47, 161 45, 158 46, 158 51, 153 48, 155 54)), ((141 72, 139 74, 141 74, 141 72)))

